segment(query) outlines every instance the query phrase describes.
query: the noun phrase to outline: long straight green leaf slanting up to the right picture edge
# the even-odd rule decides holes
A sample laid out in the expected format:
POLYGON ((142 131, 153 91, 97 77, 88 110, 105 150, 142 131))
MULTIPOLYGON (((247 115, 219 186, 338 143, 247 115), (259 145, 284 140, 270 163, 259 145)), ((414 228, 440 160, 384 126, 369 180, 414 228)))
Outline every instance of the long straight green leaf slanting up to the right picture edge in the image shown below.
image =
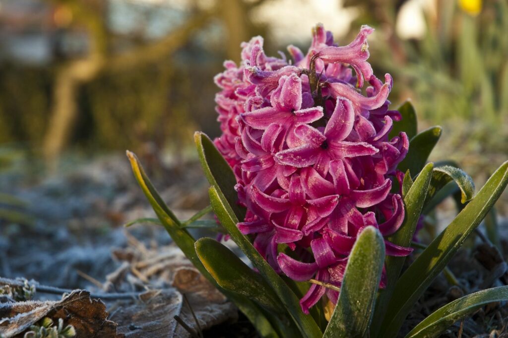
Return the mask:
POLYGON ((467 236, 485 218, 508 183, 508 162, 489 178, 452 223, 437 236, 402 274, 390 300, 379 336, 395 336, 412 305, 446 267, 467 236))

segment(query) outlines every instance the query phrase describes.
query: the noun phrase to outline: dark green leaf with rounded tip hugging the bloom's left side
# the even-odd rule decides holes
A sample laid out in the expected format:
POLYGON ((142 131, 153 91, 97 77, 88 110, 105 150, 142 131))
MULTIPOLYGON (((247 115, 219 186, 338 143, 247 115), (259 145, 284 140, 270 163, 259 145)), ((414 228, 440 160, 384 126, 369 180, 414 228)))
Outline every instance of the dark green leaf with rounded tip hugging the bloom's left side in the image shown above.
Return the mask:
POLYGON ((198 149, 199 161, 211 186, 217 188, 228 201, 236 217, 243 221, 245 208, 238 205, 235 191, 236 178, 228 162, 217 150, 212 140, 204 133, 196 132, 194 141, 198 149))

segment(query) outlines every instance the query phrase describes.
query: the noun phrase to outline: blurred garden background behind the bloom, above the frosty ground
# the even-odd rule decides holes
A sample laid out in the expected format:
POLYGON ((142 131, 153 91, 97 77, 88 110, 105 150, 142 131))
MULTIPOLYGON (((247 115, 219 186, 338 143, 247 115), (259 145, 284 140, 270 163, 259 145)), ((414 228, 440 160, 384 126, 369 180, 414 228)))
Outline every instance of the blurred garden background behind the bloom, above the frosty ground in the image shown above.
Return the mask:
POLYGON ((343 44, 376 28, 375 73, 421 129, 443 125, 437 157, 481 180, 506 159, 506 0, 0 0, 0 146, 181 152, 194 130, 218 134, 212 79, 242 41, 306 50, 317 22, 343 44))

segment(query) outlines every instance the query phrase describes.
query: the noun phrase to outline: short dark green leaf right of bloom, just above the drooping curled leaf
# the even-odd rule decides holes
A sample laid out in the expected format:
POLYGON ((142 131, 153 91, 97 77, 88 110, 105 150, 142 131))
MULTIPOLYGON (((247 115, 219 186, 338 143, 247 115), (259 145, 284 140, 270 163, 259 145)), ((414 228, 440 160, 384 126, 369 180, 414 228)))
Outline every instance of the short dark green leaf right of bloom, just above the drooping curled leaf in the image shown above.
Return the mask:
POLYGON ((413 175, 419 173, 425 166, 430 152, 434 149, 440 136, 441 127, 431 127, 413 137, 409 141, 409 151, 397 169, 403 172, 409 169, 413 175))

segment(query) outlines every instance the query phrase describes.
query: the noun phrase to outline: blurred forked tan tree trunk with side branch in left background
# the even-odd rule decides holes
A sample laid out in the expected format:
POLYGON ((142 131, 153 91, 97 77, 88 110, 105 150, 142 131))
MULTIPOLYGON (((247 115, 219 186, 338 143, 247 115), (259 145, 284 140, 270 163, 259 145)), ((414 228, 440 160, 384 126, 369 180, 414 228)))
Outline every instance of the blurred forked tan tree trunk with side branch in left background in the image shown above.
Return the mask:
POLYGON ((65 2, 50 0, 50 2, 68 6, 76 21, 87 27, 90 40, 90 52, 87 58, 72 60, 57 70, 50 120, 43 142, 43 155, 48 164, 54 168, 58 156, 68 144, 74 130, 79 114, 77 97, 82 84, 91 81, 104 70, 124 71, 171 55, 187 43, 198 28, 208 22, 211 13, 199 13, 190 17, 184 24, 159 41, 141 45, 118 55, 108 55, 104 3, 96 0, 65 2))

